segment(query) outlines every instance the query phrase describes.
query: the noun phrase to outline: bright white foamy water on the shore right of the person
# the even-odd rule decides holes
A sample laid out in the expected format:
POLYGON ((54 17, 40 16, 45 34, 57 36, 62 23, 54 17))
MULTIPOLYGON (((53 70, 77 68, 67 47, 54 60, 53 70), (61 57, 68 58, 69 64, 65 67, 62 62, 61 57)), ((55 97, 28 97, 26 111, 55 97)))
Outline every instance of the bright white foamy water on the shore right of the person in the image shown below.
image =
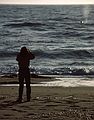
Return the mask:
POLYGON ((42 84, 62 87, 94 86, 94 78, 56 78, 56 81, 42 82, 42 84))

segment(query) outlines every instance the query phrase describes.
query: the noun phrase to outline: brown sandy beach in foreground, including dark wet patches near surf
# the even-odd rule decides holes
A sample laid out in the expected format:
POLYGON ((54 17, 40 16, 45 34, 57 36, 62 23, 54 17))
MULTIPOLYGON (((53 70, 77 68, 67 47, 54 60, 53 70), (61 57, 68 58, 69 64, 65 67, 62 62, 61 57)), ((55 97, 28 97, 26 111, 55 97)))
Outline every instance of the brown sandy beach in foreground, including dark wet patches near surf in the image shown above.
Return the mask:
MULTIPOLYGON (((54 78, 33 78, 35 81, 54 78)), ((32 81, 33 81, 32 80, 32 81)), ((0 82, 17 77, 0 77, 0 82)), ((33 81, 33 82, 34 82, 33 81)), ((0 86, 0 120, 94 120, 94 87, 32 86, 32 98, 17 103, 18 87, 0 86)))

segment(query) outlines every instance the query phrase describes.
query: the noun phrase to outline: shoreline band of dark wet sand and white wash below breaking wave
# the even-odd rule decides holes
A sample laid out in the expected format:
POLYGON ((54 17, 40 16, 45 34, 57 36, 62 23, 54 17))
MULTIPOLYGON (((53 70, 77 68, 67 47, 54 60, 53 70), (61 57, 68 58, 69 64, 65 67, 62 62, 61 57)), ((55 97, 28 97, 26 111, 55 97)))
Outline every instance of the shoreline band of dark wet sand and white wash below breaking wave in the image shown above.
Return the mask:
MULTIPOLYGON (((30 82, 31 86, 94 87, 94 76, 51 76, 31 74, 30 82)), ((9 74, 0 76, 0 86, 19 86, 18 75, 9 74)))

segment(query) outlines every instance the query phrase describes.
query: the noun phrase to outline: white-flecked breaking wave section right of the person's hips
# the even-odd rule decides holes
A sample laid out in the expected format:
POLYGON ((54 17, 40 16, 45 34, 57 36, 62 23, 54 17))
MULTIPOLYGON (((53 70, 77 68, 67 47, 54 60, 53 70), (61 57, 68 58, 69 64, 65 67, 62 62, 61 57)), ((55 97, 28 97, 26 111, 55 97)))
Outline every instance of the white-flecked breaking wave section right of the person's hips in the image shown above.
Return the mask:
POLYGON ((31 69, 32 73, 41 74, 41 75, 94 75, 94 69, 86 68, 33 68, 31 69))

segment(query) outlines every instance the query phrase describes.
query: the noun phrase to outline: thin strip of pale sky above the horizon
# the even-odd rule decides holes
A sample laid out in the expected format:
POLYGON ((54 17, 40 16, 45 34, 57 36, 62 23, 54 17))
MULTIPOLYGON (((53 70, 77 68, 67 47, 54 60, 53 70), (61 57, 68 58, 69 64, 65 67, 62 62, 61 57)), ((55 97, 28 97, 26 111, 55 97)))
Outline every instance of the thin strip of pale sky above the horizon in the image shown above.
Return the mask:
POLYGON ((94 4, 94 0, 0 0, 0 4, 94 4))

